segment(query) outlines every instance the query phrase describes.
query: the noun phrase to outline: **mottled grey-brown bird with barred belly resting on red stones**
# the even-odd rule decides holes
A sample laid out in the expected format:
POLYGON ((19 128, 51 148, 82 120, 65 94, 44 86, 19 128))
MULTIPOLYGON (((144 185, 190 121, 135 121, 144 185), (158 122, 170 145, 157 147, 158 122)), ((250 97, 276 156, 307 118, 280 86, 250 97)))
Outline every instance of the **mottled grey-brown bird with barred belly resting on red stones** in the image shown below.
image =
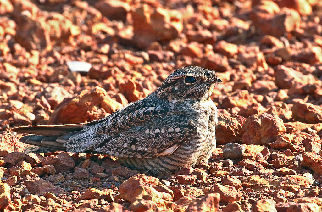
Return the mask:
POLYGON ((21 142, 50 150, 108 154, 123 166, 157 175, 207 162, 216 147, 217 108, 210 96, 222 82, 214 71, 184 67, 142 100, 82 124, 12 129, 21 142))

